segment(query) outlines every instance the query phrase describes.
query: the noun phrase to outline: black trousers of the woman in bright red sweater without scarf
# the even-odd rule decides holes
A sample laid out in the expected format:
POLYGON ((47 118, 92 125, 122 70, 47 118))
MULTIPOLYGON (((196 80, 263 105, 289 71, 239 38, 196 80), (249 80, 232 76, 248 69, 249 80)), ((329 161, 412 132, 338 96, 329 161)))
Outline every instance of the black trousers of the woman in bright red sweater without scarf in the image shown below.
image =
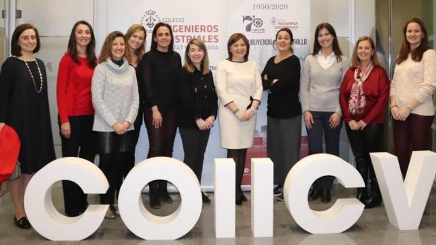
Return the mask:
MULTIPOLYGON (((78 156, 94 163, 96 152, 95 133, 92 131, 94 115, 69 116, 68 120, 71 128, 70 138, 63 137, 59 130, 62 142, 62 157, 78 156)), ((59 118, 58 124, 60 129, 59 118)), ((88 205, 87 195, 83 193, 76 183, 63 180, 62 190, 67 216, 77 216, 86 209, 88 205)))

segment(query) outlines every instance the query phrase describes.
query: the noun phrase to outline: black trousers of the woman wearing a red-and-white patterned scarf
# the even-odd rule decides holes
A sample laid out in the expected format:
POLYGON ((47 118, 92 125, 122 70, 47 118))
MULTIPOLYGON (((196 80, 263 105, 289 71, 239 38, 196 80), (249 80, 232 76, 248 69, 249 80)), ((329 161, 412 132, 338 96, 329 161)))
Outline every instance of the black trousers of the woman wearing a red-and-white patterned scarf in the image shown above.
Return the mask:
POLYGON ((351 130, 345 124, 351 149, 356 159, 356 169, 362 176, 365 187, 368 187, 368 177, 371 179, 371 192, 380 193, 370 152, 383 151, 383 124, 370 123, 363 130, 351 130))

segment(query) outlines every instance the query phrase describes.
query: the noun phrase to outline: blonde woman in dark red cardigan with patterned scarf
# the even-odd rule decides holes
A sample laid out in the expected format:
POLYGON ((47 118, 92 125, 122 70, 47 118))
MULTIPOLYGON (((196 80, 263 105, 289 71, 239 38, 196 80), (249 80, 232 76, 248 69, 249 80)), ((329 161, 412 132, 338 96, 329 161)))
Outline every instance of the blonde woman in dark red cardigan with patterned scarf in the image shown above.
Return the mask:
POLYGON ((356 198, 365 204, 365 208, 372 208, 382 204, 382 196, 369 153, 382 151, 389 80, 370 37, 357 41, 350 66, 340 87, 339 103, 356 168, 365 182, 365 188, 357 189, 356 198), (370 195, 368 177, 371 179, 370 195))

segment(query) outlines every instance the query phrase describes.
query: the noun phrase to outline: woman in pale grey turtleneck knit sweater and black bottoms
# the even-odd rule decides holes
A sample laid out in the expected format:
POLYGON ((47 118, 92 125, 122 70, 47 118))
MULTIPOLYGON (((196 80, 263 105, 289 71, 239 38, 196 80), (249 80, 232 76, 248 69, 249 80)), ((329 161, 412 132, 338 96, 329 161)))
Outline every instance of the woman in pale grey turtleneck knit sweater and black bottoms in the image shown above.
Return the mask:
POLYGON ((118 214, 115 187, 124 158, 135 148, 133 122, 139 107, 136 73, 125 57, 125 49, 124 35, 111 32, 92 77, 92 103, 96 112, 93 130, 97 131, 99 167, 109 181, 109 190, 100 195, 100 202, 109 204, 106 218, 110 219, 118 214))

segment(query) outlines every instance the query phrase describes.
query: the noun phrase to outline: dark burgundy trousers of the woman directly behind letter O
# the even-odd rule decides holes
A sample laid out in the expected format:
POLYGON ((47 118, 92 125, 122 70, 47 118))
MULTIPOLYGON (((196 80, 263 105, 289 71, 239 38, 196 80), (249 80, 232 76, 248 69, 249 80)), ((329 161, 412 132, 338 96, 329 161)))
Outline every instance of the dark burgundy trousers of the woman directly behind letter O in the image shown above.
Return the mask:
MULTIPOLYGON (((147 158, 156 156, 172 157, 172 148, 174 146, 175 133, 177 131, 177 111, 175 109, 163 109, 159 111, 162 115, 162 126, 155 128, 153 126, 153 111, 151 107, 144 108, 144 122, 147 128, 149 150, 147 158)), ((166 192, 167 182, 156 180, 149 183, 150 194, 154 195, 158 188, 161 192, 166 192)))

